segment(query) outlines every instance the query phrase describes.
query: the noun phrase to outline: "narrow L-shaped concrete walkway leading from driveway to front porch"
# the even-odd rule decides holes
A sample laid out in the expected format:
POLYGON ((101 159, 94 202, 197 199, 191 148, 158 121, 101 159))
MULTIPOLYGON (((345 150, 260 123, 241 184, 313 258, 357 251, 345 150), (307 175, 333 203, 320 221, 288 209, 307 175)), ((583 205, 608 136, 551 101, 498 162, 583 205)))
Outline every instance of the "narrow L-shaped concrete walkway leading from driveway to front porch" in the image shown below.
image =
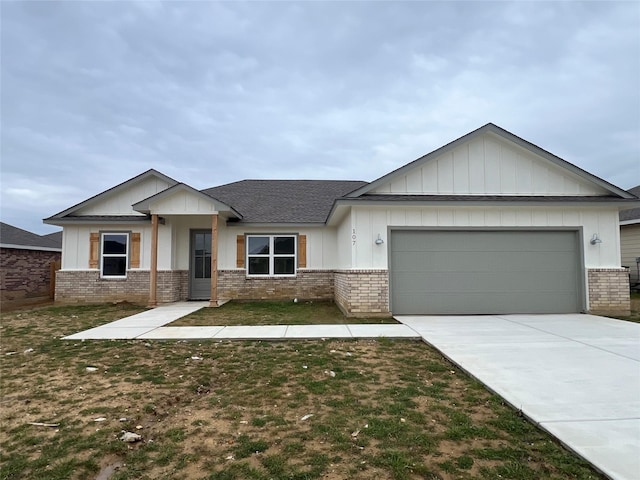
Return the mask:
POLYGON ((406 325, 262 325, 165 327, 209 302, 179 302, 64 337, 64 340, 304 340, 316 338, 407 338, 420 335, 406 325))

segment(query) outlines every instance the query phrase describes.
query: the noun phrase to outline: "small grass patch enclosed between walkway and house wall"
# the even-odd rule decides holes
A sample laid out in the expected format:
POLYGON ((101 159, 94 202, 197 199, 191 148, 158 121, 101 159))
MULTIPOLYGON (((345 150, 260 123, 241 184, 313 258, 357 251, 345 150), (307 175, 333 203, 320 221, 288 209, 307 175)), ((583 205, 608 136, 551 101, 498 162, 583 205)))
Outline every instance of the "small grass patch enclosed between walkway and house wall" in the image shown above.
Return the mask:
POLYGON ((336 323, 398 323, 391 317, 345 317, 333 302, 229 302, 203 308, 167 325, 321 325, 336 323))

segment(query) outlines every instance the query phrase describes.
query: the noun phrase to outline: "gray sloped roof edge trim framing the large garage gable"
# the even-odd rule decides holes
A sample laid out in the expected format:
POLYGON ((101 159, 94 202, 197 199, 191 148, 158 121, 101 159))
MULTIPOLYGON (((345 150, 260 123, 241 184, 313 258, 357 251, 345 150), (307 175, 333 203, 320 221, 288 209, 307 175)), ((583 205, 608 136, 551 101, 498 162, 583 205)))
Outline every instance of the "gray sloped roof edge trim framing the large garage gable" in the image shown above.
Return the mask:
POLYGON ((371 192, 372 190, 375 190, 376 188, 378 188, 381 185, 384 185, 388 182, 390 182, 391 180, 393 180, 394 178, 403 175, 405 173, 407 173, 410 170, 413 170, 417 167, 419 167, 420 165, 427 163, 431 160, 435 160, 436 158, 438 158, 439 156, 441 156, 442 154, 451 151, 457 147, 459 147, 460 145, 470 142, 471 140, 484 135, 486 133, 492 133, 494 135, 497 135, 499 137, 504 138, 505 140, 508 140, 518 146, 520 146, 521 148, 524 148, 525 150, 530 151, 531 153, 533 153, 534 155, 538 155, 548 161, 550 161, 551 163, 558 165, 561 168, 564 168, 576 175, 578 175, 579 177, 584 178, 585 180, 588 180, 598 186, 600 186, 601 188, 611 192, 614 195, 617 195, 619 198, 633 198, 633 195, 630 195, 629 192, 616 187, 615 185, 607 182, 606 180, 603 180, 599 177, 596 177, 595 175, 587 172, 586 170, 583 170, 579 167, 576 167, 575 165, 573 165, 572 163, 567 162, 566 160, 563 160, 560 157, 557 157, 555 155, 553 155, 552 153, 544 150, 543 148, 538 147, 537 145, 534 145, 531 142, 528 142, 520 137, 518 137, 517 135, 514 135, 511 132, 508 132, 507 130, 498 127, 497 125, 494 125, 493 123, 487 123, 486 125, 478 128, 477 130, 474 130, 471 133, 468 133, 466 135, 463 135, 462 137, 458 138, 457 140, 454 140, 453 142, 448 143, 447 145, 438 148, 437 150, 434 150, 431 153, 428 153, 426 155, 423 155, 422 157, 418 158, 417 160, 414 160, 413 162, 410 162, 400 168, 398 168, 397 170, 394 170, 391 173, 388 173, 380 178, 378 178, 377 180, 374 180, 373 182, 365 185, 364 187, 351 192, 348 196, 349 197, 359 197, 360 195, 366 194, 368 192, 371 192))

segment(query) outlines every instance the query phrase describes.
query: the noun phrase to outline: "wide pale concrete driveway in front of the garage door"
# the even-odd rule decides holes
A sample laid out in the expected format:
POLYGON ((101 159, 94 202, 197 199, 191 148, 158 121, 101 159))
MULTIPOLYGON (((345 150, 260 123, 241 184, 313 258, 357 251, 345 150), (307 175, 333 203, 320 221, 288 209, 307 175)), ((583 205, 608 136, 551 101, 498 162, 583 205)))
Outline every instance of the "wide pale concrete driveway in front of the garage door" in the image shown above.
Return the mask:
POLYGON ((640 324, 580 314, 396 318, 609 477, 640 478, 640 324))

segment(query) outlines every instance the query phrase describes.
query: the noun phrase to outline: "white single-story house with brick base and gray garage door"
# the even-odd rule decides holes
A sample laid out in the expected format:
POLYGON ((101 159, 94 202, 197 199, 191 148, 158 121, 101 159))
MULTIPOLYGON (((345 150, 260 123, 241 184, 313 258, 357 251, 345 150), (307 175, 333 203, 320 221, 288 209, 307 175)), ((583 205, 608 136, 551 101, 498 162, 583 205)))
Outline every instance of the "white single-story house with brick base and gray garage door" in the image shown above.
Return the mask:
POLYGON ((57 302, 332 299, 347 315, 629 311, 637 198, 487 124, 371 182, 155 170, 45 219, 57 302))

